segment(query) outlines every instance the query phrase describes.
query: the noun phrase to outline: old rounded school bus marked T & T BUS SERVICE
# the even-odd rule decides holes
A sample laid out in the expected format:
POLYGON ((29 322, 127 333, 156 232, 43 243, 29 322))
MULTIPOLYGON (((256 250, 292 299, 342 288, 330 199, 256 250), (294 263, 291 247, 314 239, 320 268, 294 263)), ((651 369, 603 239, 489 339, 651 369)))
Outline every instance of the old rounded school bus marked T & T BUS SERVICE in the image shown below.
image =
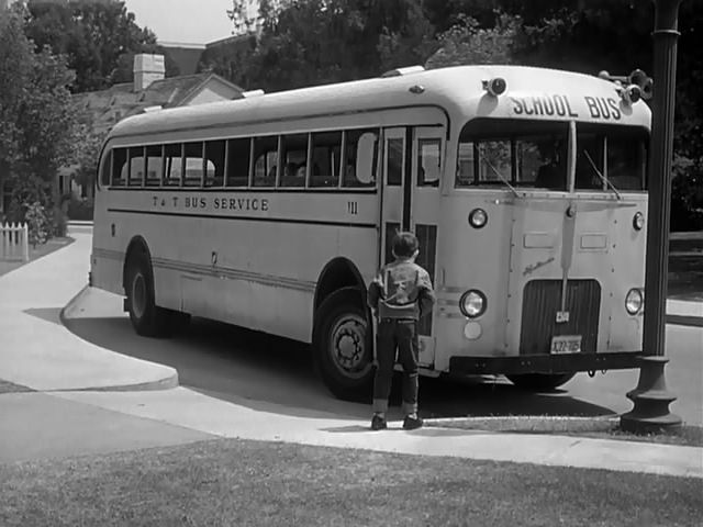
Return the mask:
POLYGON ((310 343, 330 390, 359 396, 367 284, 412 231, 438 299, 423 374, 548 389, 634 368, 650 112, 632 93, 409 68, 130 117, 101 154, 91 283, 125 295, 142 335, 194 315, 310 343))

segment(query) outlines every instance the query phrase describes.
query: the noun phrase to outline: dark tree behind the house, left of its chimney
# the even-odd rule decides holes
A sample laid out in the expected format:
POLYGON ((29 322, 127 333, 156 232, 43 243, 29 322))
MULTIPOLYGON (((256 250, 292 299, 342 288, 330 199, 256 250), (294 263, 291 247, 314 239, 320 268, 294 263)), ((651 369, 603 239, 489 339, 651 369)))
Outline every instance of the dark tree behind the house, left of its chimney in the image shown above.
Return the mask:
POLYGON ((136 25, 121 0, 30 0, 25 34, 37 49, 49 46, 68 57, 76 71, 74 92, 131 81, 136 53, 165 54, 166 75, 178 75, 154 33, 136 25))

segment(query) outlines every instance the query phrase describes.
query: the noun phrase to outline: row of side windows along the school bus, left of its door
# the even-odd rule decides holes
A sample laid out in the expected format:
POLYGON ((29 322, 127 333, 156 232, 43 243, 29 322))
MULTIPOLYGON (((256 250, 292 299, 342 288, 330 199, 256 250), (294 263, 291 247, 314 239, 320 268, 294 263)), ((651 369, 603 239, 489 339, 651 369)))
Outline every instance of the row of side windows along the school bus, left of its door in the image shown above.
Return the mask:
POLYGON ((373 188, 379 130, 268 135, 113 148, 113 188, 373 188))

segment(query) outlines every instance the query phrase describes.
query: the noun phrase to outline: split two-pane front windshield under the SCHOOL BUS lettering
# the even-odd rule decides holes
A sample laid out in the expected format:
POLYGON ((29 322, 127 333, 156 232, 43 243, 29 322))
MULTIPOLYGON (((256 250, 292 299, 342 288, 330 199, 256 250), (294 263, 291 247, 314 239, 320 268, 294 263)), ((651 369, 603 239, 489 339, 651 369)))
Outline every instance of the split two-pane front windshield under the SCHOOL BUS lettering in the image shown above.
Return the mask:
MULTIPOLYGON (((566 191, 568 124, 473 120, 457 148, 457 188, 509 186, 566 191)), ((647 132, 577 124, 576 190, 644 190, 647 132)))

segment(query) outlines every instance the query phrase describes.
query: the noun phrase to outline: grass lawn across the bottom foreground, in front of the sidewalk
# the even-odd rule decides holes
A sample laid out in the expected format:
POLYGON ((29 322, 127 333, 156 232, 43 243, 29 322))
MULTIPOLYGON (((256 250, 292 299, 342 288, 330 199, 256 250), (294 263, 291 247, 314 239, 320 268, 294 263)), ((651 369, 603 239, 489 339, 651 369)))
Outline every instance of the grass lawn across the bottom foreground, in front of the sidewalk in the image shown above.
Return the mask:
POLYGON ((703 480, 222 439, 0 466, 10 526, 700 526, 703 480))

